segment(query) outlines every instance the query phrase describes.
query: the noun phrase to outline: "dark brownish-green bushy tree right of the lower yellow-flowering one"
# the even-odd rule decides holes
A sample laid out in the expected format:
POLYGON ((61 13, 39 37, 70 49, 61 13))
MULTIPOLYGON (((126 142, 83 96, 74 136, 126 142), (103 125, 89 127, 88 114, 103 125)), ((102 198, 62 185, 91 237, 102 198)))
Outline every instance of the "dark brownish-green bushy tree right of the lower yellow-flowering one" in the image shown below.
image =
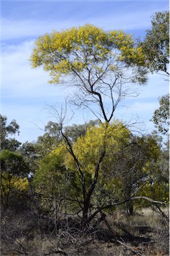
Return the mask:
MULTIPOLYGON (((115 155, 113 162, 113 178, 119 180, 117 193, 119 200, 133 197, 140 191, 151 177, 151 182, 157 177, 157 160, 161 151, 157 141, 151 136, 131 136, 129 144, 115 155)), ((150 184, 149 184, 150 185, 150 184)), ((155 198, 155 197, 154 197, 155 198)), ((127 213, 133 214, 133 201, 125 204, 127 213)))

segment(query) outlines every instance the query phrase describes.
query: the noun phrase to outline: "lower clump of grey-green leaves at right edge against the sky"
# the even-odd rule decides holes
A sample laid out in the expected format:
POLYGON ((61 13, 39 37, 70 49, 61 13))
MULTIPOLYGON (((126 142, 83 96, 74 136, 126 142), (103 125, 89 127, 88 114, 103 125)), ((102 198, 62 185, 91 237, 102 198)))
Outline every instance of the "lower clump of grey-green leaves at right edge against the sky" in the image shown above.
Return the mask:
POLYGON ((169 131, 169 93, 159 98, 159 109, 153 113, 153 123, 164 135, 169 131))

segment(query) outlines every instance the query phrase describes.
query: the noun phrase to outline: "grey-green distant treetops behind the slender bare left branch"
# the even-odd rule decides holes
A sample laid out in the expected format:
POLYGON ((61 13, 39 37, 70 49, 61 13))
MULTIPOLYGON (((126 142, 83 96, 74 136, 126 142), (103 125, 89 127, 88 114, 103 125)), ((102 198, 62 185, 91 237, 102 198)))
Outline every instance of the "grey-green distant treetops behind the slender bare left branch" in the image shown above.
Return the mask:
MULTIPOLYGON (((69 137, 73 143, 78 137, 85 135, 87 127, 94 126, 97 121, 89 121, 83 125, 71 125, 64 128, 65 135, 69 137)), ((25 162, 31 173, 31 179, 39 165, 41 165, 42 159, 44 159, 49 153, 54 151, 62 142, 59 125, 53 121, 49 121, 45 125, 45 133, 39 136, 36 143, 30 143, 26 141, 19 147, 18 151, 23 155, 25 162)))

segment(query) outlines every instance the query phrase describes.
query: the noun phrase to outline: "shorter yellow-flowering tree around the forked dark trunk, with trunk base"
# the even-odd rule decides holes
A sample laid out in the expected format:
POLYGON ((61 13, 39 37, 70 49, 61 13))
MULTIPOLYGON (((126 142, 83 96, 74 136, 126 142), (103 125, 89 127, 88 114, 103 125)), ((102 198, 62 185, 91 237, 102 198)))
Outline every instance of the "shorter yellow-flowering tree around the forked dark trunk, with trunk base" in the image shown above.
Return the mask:
POLYGON ((105 177, 111 171, 109 167, 113 162, 114 154, 121 150, 128 140, 129 131, 122 123, 111 125, 104 123, 99 127, 89 127, 85 136, 79 137, 73 147, 67 146, 70 155, 66 163, 68 170, 75 173, 73 186, 77 191, 74 197, 83 211, 83 226, 89 225, 93 219, 92 214, 89 213, 90 207, 93 205, 94 210, 101 204, 101 200, 95 199, 97 184, 105 189, 107 184, 105 177))

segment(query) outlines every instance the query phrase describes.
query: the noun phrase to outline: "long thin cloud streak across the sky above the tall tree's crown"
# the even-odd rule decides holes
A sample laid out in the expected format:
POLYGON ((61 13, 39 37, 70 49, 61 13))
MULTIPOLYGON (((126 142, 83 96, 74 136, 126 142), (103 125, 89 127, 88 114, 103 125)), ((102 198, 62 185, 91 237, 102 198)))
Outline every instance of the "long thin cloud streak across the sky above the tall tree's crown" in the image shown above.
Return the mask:
POLYGON ((69 27, 84 25, 85 23, 91 23, 104 29, 148 29, 151 26, 151 15, 155 11, 157 9, 128 11, 127 13, 118 12, 111 16, 103 12, 100 15, 94 14, 92 17, 82 18, 80 18, 79 14, 76 14, 75 16, 67 17, 67 19, 57 19, 56 21, 49 21, 48 19, 2 19, 2 39, 35 38, 43 33, 51 33, 54 29, 60 31, 69 27))

